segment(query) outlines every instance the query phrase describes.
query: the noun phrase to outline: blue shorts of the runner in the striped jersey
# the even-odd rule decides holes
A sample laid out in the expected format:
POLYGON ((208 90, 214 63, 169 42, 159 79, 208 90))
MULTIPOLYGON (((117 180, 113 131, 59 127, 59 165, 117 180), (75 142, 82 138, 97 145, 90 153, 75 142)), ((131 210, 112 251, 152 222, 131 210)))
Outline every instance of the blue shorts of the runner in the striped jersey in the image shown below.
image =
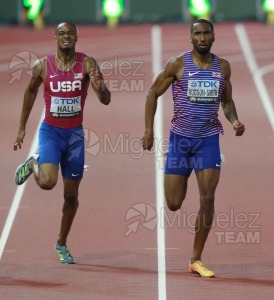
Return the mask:
POLYGON ((203 138, 188 138, 170 131, 165 174, 189 176, 194 169, 221 167, 219 134, 203 138))

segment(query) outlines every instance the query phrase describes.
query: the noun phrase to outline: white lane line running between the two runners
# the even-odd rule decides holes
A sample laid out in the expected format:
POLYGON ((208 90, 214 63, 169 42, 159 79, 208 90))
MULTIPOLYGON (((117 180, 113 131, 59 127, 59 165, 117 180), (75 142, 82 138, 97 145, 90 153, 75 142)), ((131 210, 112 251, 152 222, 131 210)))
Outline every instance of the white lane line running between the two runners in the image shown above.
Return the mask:
MULTIPOLYGON (((153 26, 152 35, 152 71, 153 77, 162 68, 162 31, 160 26, 153 26)), ((157 112, 154 120, 155 138, 155 175, 156 175, 156 208, 157 208, 157 254, 158 254, 158 300, 166 300, 166 255, 165 255, 165 228, 164 214, 164 174, 160 168, 163 155, 160 152, 160 142, 163 140, 163 104, 162 97, 158 99, 157 112), (161 224, 163 223, 163 224, 161 224)))

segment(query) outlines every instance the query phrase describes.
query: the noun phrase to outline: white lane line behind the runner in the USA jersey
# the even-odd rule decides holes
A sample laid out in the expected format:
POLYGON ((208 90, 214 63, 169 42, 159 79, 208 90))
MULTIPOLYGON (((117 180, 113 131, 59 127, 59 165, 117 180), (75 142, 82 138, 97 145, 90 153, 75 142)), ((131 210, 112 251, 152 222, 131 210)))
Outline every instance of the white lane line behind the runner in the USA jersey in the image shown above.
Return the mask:
MULTIPOLYGON (((43 113, 40 117, 38 127, 37 127, 36 132, 35 132, 35 136, 32 140, 32 144, 31 144, 31 147, 30 147, 28 157, 30 155, 32 155, 33 153, 36 153, 36 151, 37 151, 39 127, 40 127, 41 122, 44 119, 44 115, 45 115, 45 113, 43 111, 43 113)), ((9 210, 9 214, 8 214, 7 219, 6 219, 6 222, 5 222, 3 231, 2 231, 2 235, 0 237, 0 261, 1 261, 2 254, 3 254, 4 249, 5 249, 5 246, 6 246, 6 243, 7 243, 7 240, 8 240, 8 237, 9 237, 14 219, 15 219, 15 216, 17 214, 20 202, 22 200, 22 197, 23 197, 23 194, 24 194, 24 191, 25 191, 25 188, 26 188, 26 184, 27 184, 27 182, 22 184, 22 185, 19 185, 17 187, 15 195, 13 197, 12 204, 11 204, 11 207, 10 207, 10 210, 9 210)))

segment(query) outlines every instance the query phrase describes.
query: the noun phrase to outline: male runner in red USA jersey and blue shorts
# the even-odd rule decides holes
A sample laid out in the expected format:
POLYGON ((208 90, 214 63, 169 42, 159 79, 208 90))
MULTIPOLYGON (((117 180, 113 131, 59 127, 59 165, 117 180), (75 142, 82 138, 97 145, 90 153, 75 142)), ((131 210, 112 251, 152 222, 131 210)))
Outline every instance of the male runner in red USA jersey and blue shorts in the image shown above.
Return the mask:
POLYGON ((38 155, 20 165, 15 183, 23 184, 33 173, 41 189, 51 190, 57 183, 61 166, 64 182, 64 206, 61 229, 55 244, 62 263, 74 263, 67 248, 67 237, 78 208, 78 189, 84 169, 83 110, 89 83, 99 100, 111 100, 96 60, 75 51, 77 29, 72 23, 61 23, 56 32, 57 51, 38 60, 24 94, 19 131, 14 150, 21 149, 26 124, 38 89, 44 84, 45 119, 39 130, 38 155))

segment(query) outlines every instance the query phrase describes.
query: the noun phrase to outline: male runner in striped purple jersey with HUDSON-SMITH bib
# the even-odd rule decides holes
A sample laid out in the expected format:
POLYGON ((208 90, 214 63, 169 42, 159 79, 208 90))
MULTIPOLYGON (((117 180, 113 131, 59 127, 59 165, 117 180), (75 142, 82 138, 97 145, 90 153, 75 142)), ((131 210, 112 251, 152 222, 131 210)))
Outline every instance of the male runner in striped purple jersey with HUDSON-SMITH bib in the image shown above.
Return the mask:
POLYGON ((220 103, 236 136, 241 136, 245 127, 238 120, 232 99, 230 65, 210 52, 215 40, 212 23, 196 20, 191 25, 190 40, 192 51, 170 58, 149 90, 142 145, 144 149, 152 148, 157 99, 172 85, 174 115, 164 180, 167 206, 172 211, 180 209, 194 169, 200 210, 189 270, 203 277, 214 277, 214 272, 201 262, 201 255, 213 222, 214 196, 220 177, 219 134, 223 134, 218 120, 220 103))

